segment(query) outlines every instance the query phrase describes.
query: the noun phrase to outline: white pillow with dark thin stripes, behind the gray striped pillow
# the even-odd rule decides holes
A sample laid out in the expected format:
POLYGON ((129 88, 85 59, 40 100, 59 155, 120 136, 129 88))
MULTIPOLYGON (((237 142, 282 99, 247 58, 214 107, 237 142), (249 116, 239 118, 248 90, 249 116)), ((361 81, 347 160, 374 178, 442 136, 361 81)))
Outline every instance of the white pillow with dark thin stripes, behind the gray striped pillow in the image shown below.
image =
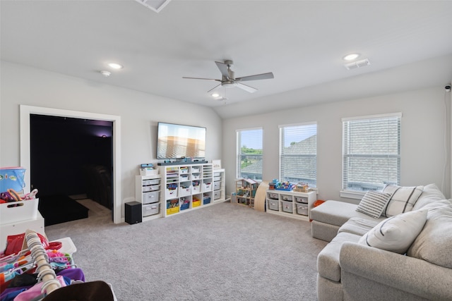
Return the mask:
POLYGON ((424 186, 400 187, 397 185, 387 185, 383 192, 391 193, 391 199, 383 211, 383 216, 391 217, 412 210, 417 199, 422 194, 424 186))

